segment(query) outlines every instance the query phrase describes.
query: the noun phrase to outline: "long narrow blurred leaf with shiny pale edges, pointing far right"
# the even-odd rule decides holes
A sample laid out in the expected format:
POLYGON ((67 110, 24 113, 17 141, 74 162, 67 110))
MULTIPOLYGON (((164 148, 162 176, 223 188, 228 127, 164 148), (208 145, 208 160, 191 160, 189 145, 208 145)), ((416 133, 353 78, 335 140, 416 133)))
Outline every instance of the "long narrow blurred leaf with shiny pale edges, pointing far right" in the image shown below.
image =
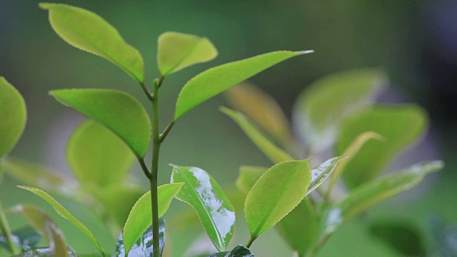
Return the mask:
POLYGON ((349 218, 366 211, 376 203, 417 186, 428 173, 438 171, 442 167, 442 161, 416 163, 402 171, 363 183, 328 212, 327 233, 335 231, 349 218))

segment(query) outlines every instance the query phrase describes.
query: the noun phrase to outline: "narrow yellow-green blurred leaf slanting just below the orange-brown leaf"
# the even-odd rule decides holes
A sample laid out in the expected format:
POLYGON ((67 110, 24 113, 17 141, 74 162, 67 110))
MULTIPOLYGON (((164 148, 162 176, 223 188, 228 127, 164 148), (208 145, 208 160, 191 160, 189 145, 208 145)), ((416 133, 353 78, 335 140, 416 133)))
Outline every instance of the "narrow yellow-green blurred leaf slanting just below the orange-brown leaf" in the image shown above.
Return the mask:
POLYGON ((273 161, 273 163, 290 161, 293 159, 285 151, 283 151, 281 148, 278 148, 278 146, 263 136, 263 134, 251 124, 246 116, 239 113, 238 111, 233 111, 224 107, 221 107, 221 111, 233 119, 233 121, 235 121, 236 124, 238 124, 238 126, 243 129, 248 138, 250 138, 251 141, 253 141, 253 143, 255 143, 256 146, 263 152, 263 154, 265 154, 268 158, 270 158, 271 161, 273 161))

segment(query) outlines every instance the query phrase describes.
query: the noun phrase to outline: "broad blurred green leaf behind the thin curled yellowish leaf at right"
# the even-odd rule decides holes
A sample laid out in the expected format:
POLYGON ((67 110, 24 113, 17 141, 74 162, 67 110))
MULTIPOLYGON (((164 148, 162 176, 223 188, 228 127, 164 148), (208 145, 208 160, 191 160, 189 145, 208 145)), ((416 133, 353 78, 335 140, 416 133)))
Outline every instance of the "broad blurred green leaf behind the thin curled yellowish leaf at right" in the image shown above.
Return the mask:
POLYGON ((338 155, 343 154, 366 131, 386 138, 385 141, 366 142, 356 156, 348 161, 342 171, 346 186, 352 189, 376 178, 399 151, 423 134, 427 124, 425 111, 415 105, 374 106, 344 121, 336 145, 338 155))

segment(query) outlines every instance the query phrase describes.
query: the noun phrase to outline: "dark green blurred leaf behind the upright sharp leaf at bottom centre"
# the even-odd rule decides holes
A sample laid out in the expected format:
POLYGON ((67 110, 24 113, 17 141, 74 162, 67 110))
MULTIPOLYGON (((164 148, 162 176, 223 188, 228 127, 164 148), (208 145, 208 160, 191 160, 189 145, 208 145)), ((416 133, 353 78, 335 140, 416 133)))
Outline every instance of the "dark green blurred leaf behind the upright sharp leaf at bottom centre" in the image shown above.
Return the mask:
POLYGON ((306 256, 318 238, 318 216, 308 198, 276 224, 282 238, 298 256, 306 256))

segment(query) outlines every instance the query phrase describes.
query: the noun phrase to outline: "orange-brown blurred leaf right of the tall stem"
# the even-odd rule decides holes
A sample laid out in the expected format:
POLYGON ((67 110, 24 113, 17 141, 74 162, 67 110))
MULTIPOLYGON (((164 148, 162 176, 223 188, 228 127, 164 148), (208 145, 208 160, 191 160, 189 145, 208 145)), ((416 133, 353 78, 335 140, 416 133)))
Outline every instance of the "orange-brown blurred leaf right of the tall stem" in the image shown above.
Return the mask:
POLYGON ((233 108, 246 114, 263 131, 283 146, 291 139, 291 129, 281 107, 268 94, 252 84, 243 83, 226 91, 226 99, 233 108))

